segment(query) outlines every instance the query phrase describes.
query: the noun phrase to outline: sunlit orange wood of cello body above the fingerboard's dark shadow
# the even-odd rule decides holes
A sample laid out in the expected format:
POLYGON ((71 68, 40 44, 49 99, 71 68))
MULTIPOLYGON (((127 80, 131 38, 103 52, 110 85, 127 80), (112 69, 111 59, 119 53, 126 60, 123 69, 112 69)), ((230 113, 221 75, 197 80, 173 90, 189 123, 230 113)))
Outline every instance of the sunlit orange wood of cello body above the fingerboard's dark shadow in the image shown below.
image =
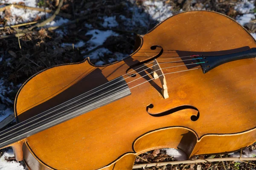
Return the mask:
POLYGON ((15 116, 60 94, 95 69, 89 59, 57 65, 30 77, 15 98, 15 116), (29 102, 27 102, 29 101, 29 102))

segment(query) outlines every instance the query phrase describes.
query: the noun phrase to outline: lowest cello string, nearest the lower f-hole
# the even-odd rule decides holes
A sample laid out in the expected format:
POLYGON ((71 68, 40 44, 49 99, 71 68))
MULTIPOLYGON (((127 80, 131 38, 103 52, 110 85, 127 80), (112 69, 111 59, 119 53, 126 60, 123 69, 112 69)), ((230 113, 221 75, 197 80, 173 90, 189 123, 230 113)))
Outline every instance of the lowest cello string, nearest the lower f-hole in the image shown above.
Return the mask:
MULTIPOLYGON (((203 68, 203 67, 201 67, 201 68, 203 68)), ((164 68, 163 68, 163 69, 164 69, 164 68)), ((196 69, 200 69, 200 68, 192 68, 192 69, 183 70, 183 71, 175 71, 175 72, 171 72, 171 73, 167 73, 167 74, 180 73, 180 72, 191 71, 191 70, 196 70, 196 69)), ((160 76, 158 76, 158 77, 161 77, 161 76, 163 76, 163 75, 166 75, 166 74, 162 74, 162 75, 160 75, 160 76)), ((152 78, 152 79, 154 79, 154 78, 152 78)), ((143 83, 140 83, 140 84, 138 84, 138 85, 135 85, 135 86, 132 87, 132 88, 136 88, 136 87, 139 86, 139 85, 142 85, 142 84, 144 84, 144 83, 146 83, 146 82, 151 81, 152 79, 149 79, 149 80, 147 80, 147 81, 145 81, 145 82, 143 82, 143 83)), ((130 90, 130 89, 132 89, 132 88, 126 89, 125 91, 128 91, 128 90, 130 90)), ((121 93, 123 93, 123 92, 125 92, 125 91, 122 91, 122 92, 120 92, 120 93, 118 93, 118 94, 114 94, 113 96, 119 95, 119 94, 121 94, 121 93)), ((110 96, 110 97, 108 97, 108 98, 105 98, 105 99, 103 99, 103 100, 101 100, 101 101, 99 101, 99 102, 102 102, 102 101, 104 101, 104 100, 106 100, 106 99, 109 99, 109 98, 111 98, 111 97, 113 97, 113 96, 110 96)), ((95 105, 95 104, 97 104, 97 103, 99 103, 99 102, 93 103, 93 104, 91 104, 91 105, 89 105, 89 106, 86 106, 85 108, 88 108, 88 107, 90 107, 90 106, 92 106, 92 105, 95 105)), ((61 118, 54 119, 52 122, 55 122, 55 121, 57 121, 57 120, 59 120, 59 119, 62 119, 62 118, 67 117, 67 116, 70 116, 71 114, 74 114, 74 113, 76 113, 76 112, 78 112, 78 111, 81 111, 81 110, 83 110, 83 109, 85 109, 85 108, 82 108, 82 109, 79 109, 79 110, 77 110, 77 111, 75 111, 75 112, 72 112, 72 113, 69 113, 69 114, 67 114, 67 115, 64 115, 64 116, 62 116, 61 118)), ((43 121, 41 121, 41 122, 43 122, 43 121)), ((41 125, 41 126, 36 127, 36 128, 33 128, 32 130, 29 130, 29 131, 27 131, 27 132, 25 132, 25 133, 23 133, 23 134, 21 134, 21 135, 19 135, 19 136, 15 136, 15 137, 13 137, 12 139, 9 139, 9 140, 6 140, 6 141, 0 143, 0 145, 3 144, 3 143, 9 142, 10 140, 13 140, 13 139, 15 139, 15 138, 19 138, 20 136, 25 135, 26 133, 30 133, 30 132, 32 132, 33 130, 36 130, 36 129, 38 129, 38 128, 41 128, 41 127, 43 127, 43 126, 45 126, 45 125, 48 125, 48 124, 50 124, 50 123, 52 123, 52 122, 48 122, 48 123, 46 123, 46 124, 44 124, 44 125, 41 125)), ((15 133, 17 133, 17 132, 15 132, 15 133)), ((13 133, 13 134, 15 134, 15 133, 13 133)), ((11 135, 13 135, 13 134, 11 134, 11 135)), ((10 135, 9 135, 9 136, 10 136, 10 135)), ((6 137, 7 137, 7 136, 5 136, 4 138, 6 138, 6 137)), ((4 138, 1 138, 0 140, 2 140, 2 139, 4 139, 4 138)))

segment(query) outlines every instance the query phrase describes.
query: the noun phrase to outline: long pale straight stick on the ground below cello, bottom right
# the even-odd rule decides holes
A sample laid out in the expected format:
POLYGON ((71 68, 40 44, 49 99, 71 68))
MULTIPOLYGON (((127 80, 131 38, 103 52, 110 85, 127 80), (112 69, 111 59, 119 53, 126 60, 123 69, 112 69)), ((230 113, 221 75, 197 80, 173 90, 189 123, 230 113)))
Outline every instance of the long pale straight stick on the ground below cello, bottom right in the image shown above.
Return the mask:
POLYGON ((175 164, 197 164, 203 162, 219 162, 219 161, 256 161, 256 158, 213 158, 213 159, 196 159, 196 160, 187 160, 187 161, 170 161, 170 162, 158 162, 158 163, 151 163, 151 164, 137 164, 134 165, 132 169, 143 168, 143 167, 162 167, 168 164, 175 165, 175 164))

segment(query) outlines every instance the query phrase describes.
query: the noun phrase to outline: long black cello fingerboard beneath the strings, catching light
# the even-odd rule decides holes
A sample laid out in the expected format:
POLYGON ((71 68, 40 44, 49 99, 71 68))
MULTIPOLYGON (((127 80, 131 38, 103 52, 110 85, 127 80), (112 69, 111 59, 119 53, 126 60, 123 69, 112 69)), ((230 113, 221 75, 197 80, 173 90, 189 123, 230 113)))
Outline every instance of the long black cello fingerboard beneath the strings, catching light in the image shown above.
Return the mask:
POLYGON ((0 148, 131 94, 121 76, 0 133, 0 148))

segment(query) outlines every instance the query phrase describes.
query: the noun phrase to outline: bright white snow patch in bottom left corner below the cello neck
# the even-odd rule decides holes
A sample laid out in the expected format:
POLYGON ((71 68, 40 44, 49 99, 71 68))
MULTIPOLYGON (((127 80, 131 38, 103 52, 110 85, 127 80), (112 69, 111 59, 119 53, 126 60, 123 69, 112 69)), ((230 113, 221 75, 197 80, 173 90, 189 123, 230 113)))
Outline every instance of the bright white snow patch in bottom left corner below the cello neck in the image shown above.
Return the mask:
POLYGON ((13 150, 10 149, 0 157, 0 170, 25 170, 24 167, 17 161, 6 161, 6 158, 13 157, 13 150))

